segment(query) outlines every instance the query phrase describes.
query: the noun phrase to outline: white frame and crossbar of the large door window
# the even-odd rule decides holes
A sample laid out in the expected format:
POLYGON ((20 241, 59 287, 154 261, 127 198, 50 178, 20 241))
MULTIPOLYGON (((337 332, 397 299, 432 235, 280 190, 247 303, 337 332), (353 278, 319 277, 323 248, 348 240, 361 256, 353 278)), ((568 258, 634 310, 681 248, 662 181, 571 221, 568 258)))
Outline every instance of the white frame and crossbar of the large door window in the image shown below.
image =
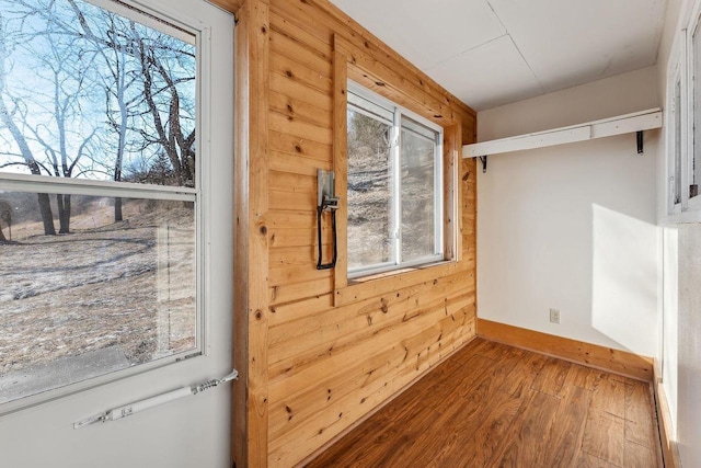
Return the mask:
MULTIPOLYGON (((162 186, 139 184, 129 182, 94 181, 81 179, 62 179, 47 175, 27 175, 10 172, 0 172, 0 189, 5 191, 22 191, 49 194, 71 194, 88 196, 107 196, 123 198, 147 198, 147 199, 169 199, 192 202, 195 206, 195 230, 196 230, 196 331, 195 346, 193 349, 159 357, 133 367, 110 372, 107 374, 74 381, 65 386, 46 390, 39 393, 30 395, 13 401, 0 403, 0 416, 20 411, 30 407, 53 401, 83 390, 103 386, 105 384, 122 380, 127 377, 148 373, 175 363, 189 362, 193 357, 207 356, 210 353, 209 322, 206 297, 209 296, 210 282, 212 275, 209 273, 212 252, 208 249, 210 237, 214 233, 211 219, 211 201, 214 192, 210 180, 215 175, 210 161, 212 152, 208 138, 209 129, 212 125, 210 115, 212 113, 211 103, 211 31, 209 26, 197 20, 185 15, 179 10, 156 1, 148 2, 158 5, 156 9, 150 4, 138 0, 84 0, 96 7, 113 11, 123 16, 134 19, 139 23, 159 30, 165 34, 185 39, 188 35, 194 36, 196 46, 196 122, 195 132, 197 135, 197 158, 195 158, 195 187, 187 186, 162 186), (159 21, 162 19, 176 27, 171 27, 159 21), (182 30, 182 31, 179 31, 182 30)), ((233 103, 232 103, 233 104, 233 103)))

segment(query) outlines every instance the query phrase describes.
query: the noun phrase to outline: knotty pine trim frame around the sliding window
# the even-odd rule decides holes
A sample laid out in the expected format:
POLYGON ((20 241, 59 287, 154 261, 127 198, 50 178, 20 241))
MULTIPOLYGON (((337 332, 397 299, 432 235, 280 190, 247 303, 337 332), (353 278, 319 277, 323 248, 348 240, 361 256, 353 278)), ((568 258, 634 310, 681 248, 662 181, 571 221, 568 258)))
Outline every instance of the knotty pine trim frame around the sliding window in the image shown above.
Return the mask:
MULTIPOLYGON (((463 242, 464 236, 474 235, 474 217, 463 213, 466 206, 474 203, 474 160, 462 158, 462 145, 472 141, 474 115, 456 112, 443 99, 416 93, 430 85, 423 80, 412 81, 400 77, 391 68, 366 56, 357 43, 341 34, 333 36, 333 160, 335 171, 335 193, 343 194, 347 186, 347 83, 348 79, 374 92, 391 99, 444 129, 444 252, 445 259, 427 265, 393 270, 348 281, 346 255, 338 255, 332 274, 332 298, 334 307, 346 306, 378 297, 383 292, 418 285, 425 282, 436 284, 436 278, 452 275, 468 275, 474 281, 474 243, 463 242)), ((347 201, 338 201, 337 248, 345 252, 347 242, 347 201)), ((440 282, 440 279, 438 281, 440 282)), ((386 300, 384 298, 382 299, 386 300)))

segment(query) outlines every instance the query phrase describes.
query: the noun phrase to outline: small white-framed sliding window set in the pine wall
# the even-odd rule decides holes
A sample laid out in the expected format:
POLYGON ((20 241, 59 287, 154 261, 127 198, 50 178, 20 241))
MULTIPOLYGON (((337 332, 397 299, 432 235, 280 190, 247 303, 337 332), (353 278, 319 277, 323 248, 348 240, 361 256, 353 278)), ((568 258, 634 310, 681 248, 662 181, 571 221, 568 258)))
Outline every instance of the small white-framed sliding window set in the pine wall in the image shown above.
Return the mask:
POLYGON ((443 130, 348 85, 348 276, 444 259, 443 130))

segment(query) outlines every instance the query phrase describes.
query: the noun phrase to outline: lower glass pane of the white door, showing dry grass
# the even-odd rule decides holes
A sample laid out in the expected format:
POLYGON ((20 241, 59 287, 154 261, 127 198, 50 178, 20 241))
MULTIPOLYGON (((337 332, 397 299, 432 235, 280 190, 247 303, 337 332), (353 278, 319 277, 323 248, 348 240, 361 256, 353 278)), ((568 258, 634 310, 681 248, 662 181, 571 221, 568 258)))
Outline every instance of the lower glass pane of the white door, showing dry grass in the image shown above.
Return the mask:
POLYGON ((44 236, 36 199, 0 194, 0 402, 195 349, 192 203, 122 199, 115 224, 72 195, 71 235, 44 236))

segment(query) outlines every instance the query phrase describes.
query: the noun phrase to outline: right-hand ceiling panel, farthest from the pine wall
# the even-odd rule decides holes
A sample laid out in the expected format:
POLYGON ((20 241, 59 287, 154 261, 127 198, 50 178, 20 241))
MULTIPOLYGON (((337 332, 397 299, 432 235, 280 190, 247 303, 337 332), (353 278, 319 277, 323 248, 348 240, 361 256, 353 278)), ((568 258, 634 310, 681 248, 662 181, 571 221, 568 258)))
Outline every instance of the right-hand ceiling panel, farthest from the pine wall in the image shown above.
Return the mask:
POLYGON ((490 0, 545 91, 652 66, 664 0, 490 0))

